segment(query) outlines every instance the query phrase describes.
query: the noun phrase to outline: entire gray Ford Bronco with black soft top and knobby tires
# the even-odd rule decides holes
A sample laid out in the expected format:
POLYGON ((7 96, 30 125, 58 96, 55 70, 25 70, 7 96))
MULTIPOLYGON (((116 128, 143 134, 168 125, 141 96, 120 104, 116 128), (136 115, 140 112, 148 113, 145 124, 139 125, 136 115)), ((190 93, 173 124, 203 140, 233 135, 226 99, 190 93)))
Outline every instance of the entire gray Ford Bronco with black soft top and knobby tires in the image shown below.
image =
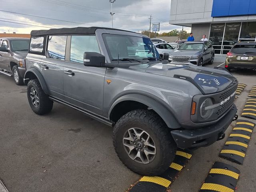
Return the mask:
POLYGON ((142 34, 112 28, 31 32, 24 83, 39 115, 53 102, 113 126, 120 160, 141 175, 159 175, 177 147, 224 138, 236 118, 238 81, 225 69, 171 64, 142 34))

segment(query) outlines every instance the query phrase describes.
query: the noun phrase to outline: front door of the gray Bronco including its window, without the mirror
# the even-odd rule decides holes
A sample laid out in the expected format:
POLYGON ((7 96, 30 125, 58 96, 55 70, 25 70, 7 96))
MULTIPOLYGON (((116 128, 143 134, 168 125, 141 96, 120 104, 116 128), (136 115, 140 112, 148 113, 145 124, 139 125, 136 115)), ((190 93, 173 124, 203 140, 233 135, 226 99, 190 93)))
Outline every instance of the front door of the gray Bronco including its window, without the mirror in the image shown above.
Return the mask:
POLYGON ((106 68, 83 64, 84 52, 98 52, 100 48, 94 35, 68 36, 70 48, 63 72, 65 101, 87 110, 103 114, 103 91, 106 68))

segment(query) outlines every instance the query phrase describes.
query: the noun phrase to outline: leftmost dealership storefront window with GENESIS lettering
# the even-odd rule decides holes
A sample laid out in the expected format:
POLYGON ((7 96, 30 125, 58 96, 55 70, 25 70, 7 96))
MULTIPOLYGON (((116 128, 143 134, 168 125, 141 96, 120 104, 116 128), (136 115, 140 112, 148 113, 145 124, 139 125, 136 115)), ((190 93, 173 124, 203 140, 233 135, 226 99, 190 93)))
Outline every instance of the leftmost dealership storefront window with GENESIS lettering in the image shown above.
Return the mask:
POLYGON ((211 25, 209 40, 215 50, 215 54, 220 54, 222 38, 224 33, 225 23, 213 23, 211 25))

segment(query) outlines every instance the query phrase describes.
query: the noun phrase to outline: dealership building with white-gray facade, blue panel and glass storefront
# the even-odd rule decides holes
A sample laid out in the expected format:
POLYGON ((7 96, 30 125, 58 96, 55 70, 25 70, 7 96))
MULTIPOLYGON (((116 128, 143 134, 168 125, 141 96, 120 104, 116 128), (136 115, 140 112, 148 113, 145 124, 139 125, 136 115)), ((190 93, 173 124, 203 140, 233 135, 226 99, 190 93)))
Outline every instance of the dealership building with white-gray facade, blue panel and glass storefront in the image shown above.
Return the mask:
POLYGON ((256 0, 171 0, 169 23, 191 27, 195 40, 206 34, 224 57, 239 40, 256 42, 256 0))

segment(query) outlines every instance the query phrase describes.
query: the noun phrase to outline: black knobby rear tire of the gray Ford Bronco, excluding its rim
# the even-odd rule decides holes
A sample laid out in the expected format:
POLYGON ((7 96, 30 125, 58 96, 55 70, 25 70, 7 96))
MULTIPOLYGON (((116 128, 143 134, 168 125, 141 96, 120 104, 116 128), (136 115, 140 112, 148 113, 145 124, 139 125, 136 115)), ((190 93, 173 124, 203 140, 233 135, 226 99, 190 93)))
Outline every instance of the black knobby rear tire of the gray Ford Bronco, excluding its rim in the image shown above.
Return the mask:
POLYGON ((40 85, 40 82, 38 79, 32 79, 28 82, 27 87, 27 96, 28 96, 28 103, 31 107, 31 109, 38 115, 44 115, 49 113, 52 110, 53 101, 49 99, 48 95, 44 93, 42 90, 42 87, 40 85), (35 107, 32 104, 32 100, 30 98, 30 90, 31 88, 34 88, 38 93, 39 98, 39 104, 38 107, 35 107))

